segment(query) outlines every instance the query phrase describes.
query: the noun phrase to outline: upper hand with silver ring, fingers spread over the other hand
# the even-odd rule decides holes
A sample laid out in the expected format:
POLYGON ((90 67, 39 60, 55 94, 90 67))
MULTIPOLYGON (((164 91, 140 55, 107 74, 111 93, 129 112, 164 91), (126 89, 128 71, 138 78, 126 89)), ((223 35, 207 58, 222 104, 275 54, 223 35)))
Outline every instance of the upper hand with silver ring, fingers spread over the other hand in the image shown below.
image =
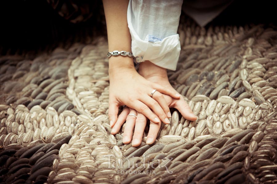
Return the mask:
MULTIPOLYGON (((111 62, 120 62, 126 57, 110 58, 111 62)), ((119 106, 126 105, 142 113, 154 123, 160 119, 169 123, 171 117, 167 102, 161 93, 180 98, 180 95, 172 89, 165 88, 160 84, 146 80, 139 75, 133 66, 109 67, 110 75, 110 96, 109 96, 109 119, 112 127, 117 121, 119 106), (151 97, 153 89, 157 91, 151 97), (152 111, 155 113, 153 113, 152 111)))

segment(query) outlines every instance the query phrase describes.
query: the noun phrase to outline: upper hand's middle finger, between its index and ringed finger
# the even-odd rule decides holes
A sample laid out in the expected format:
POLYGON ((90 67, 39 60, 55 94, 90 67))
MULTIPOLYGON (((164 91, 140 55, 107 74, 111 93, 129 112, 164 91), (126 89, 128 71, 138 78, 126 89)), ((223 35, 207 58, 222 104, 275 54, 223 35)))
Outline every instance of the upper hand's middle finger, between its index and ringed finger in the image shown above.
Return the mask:
POLYGON ((164 123, 170 123, 169 119, 167 118, 167 115, 165 114, 165 112, 163 111, 163 109, 161 108, 160 104, 154 100, 153 98, 151 98, 150 96, 142 96, 142 98, 140 98, 139 100, 141 100, 143 103, 145 103, 148 107, 150 107, 152 109, 152 111, 159 116, 159 118, 164 122, 164 123))

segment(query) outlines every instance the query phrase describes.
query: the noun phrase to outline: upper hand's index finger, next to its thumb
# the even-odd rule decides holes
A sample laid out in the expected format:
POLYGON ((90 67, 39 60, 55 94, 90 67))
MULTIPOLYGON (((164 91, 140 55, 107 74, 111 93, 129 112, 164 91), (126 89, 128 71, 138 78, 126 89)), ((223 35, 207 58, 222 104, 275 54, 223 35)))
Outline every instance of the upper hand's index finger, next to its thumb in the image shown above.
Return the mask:
MULTIPOLYGON (((150 97, 150 96, 149 96, 150 97)), ((150 97, 151 98, 151 97, 150 97)), ((152 99, 153 100, 153 99, 152 99)), ((148 119, 153 121, 154 123, 159 123, 160 119, 157 115, 155 115, 150 108, 147 107, 143 102, 139 100, 135 100, 134 103, 132 104, 132 108, 134 108, 137 112, 142 113, 145 115, 148 119)))

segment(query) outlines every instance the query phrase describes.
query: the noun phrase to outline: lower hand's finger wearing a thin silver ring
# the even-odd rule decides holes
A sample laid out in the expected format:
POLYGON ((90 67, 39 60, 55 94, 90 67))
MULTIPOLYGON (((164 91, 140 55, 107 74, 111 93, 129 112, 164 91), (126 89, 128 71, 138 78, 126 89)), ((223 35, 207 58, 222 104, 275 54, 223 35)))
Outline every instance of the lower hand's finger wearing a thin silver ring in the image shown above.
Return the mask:
MULTIPOLYGON (((135 111, 134 109, 131 109, 129 114, 137 114, 137 111, 135 111)), ((133 135, 133 130, 134 130, 134 126, 136 123, 136 117, 134 115, 128 115, 127 119, 126 119, 126 125, 124 128, 124 133, 123 133, 123 140, 122 142, 124 144, 129 144, 131 142, 132 139, 132 135, 133 135)))

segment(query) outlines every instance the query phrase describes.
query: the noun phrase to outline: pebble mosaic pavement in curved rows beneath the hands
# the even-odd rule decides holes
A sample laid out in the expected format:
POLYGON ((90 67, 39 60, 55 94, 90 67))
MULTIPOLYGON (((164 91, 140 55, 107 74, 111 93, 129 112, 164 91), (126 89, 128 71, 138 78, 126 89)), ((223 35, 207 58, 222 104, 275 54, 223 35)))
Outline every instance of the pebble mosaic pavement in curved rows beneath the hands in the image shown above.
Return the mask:
POLYGON ((198 120, 172 109, 156 142, 145 144, 147 125, 139 147, 122 143, 124 125, 110 135, 102 37, 0 58, 2 183, 277 183, 277 31, 188 21, 179 35, 168 77, 198 120))

